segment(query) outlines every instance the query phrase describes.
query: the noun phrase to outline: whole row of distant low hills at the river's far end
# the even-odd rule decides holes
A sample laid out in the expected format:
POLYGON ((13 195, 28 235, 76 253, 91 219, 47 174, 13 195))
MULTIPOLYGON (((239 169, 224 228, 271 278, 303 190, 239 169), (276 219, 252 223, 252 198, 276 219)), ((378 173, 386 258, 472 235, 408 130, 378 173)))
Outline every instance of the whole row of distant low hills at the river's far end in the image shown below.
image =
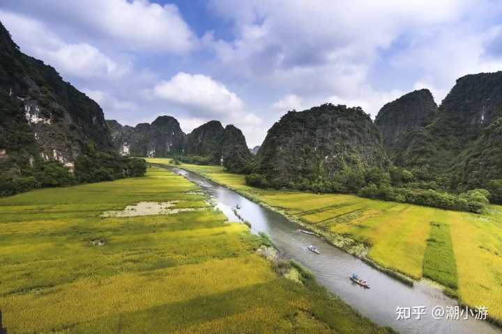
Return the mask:
POLYGON ((160 116, 151 125, 122 126, 107 120, 117 152, 135 157, 176 157, 192 164, 222 165, 232 173, 246 173, 253 154, 245 137, 234 125, 223 127, 211 120, 185 135, 178 121, 160 116))

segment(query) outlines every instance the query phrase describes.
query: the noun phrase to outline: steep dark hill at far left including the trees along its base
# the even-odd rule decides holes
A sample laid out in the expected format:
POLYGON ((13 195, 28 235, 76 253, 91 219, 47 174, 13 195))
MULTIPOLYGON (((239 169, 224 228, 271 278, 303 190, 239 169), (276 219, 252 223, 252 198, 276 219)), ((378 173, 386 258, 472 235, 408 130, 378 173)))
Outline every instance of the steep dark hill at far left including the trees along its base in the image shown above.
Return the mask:
POLYGON ((100 106, 23 54, 0 23, 0 196, 128 175, 129 161, 112 150, 100 106))

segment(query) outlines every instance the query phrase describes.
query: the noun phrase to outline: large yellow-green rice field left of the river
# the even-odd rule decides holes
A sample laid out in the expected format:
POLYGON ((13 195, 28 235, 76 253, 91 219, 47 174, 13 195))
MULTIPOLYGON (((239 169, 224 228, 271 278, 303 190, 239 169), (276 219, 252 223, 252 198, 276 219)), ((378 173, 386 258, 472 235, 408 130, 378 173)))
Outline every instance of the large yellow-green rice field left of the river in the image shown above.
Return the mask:
MULTIPOLYGON (((7 333, 390 333, 312 280, 279 276, 259 238, 161 168, 0 199, 7 333), (102 216, 137 202, 176 214, 102 216)), ((131 210, 134 210, 132 207, 131 210)))

